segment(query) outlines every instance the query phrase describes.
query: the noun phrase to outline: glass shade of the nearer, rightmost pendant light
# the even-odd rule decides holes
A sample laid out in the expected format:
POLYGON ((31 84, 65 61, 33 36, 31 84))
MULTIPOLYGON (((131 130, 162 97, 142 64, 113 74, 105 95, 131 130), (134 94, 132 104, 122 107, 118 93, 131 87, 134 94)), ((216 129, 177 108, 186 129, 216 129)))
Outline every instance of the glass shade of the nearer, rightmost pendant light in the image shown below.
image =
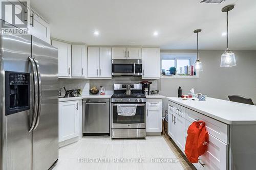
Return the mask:
POLYGON ((236 57, 234 56, 234 53, 232 53, 228 48, 221 55, 221 67, 232 67, 236 66, 236 57))

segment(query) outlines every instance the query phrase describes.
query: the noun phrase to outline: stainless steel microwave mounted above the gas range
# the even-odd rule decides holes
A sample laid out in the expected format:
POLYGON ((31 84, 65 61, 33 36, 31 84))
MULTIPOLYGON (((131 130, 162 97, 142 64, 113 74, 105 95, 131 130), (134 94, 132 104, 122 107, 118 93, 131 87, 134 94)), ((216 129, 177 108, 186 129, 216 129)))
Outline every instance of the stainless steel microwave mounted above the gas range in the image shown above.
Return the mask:
POLYGON ((112 76, 142 76, 142 60, 112 60, 112 76))

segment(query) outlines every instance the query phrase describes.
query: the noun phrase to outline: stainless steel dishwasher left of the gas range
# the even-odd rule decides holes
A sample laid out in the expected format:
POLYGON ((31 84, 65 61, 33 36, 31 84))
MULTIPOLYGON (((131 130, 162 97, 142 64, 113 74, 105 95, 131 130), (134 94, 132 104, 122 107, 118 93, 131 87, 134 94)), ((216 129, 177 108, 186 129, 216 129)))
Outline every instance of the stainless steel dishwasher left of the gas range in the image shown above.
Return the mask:
POLYGON ((110 100, 82 100, 83 136, 110 135, 110 100))

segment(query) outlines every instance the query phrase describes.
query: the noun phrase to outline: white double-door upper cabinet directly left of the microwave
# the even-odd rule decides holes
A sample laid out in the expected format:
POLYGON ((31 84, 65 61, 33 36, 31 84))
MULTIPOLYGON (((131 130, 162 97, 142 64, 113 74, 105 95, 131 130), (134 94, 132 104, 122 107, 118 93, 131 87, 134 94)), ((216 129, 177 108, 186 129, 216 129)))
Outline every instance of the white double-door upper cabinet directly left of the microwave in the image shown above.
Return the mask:
POLYGON ((88 47, 87 77, 111 79, 111 47, 88 47))

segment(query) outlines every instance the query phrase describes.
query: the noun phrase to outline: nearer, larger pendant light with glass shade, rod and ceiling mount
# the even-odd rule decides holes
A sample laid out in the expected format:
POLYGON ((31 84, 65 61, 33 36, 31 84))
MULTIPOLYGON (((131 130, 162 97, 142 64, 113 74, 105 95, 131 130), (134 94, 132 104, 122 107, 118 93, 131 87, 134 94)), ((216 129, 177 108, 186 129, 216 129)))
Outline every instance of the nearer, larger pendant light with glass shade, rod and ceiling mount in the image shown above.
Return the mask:
POLYGON ((227 49, 225 53, 221 55, 221 67, 232 67, 236 66, 236 57, 234 56, 234 53, 232 53, 228 48, 228 11, 231 11, 234 8, 233 5, 228 5, 224 8, 222 8, 222 12, 227 13, 227 49))

